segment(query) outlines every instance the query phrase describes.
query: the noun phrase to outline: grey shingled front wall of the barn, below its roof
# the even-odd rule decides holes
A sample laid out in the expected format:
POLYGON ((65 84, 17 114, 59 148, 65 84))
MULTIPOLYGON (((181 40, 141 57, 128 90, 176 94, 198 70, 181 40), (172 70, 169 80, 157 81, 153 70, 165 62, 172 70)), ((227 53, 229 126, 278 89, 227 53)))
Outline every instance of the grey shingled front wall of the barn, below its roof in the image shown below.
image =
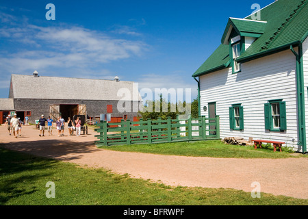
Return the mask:
POLYGON ((80 100, 47 100, 47 99, 15 99, 15 109, 17 111, 31 111, 29 117, 29 123, 34 123, 39 119, 42 114, 47 118, 49 116, 50 105, 53 104, 85 104, 87 107, 87 114, 90 117, 97 116, 99 114, 107 114, 107 105, 113 105, 112 116, 127 115, 129 120, 133 120, 133 116, 137 116, 138 113, 133 113, 133 103, 131 102, 131 113, 118 112, 118 101, 80 101, 80 100))

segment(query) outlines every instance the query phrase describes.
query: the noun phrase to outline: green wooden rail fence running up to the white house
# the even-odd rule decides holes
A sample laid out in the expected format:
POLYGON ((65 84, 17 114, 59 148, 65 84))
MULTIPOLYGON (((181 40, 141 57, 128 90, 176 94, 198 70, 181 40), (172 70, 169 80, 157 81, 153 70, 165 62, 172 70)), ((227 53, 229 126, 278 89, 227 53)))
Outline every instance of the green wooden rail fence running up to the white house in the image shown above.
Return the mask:
POLYGON ((186 120, 158 118, 131 122, 121 120, 120 123, 102 121, 95 129, 99 135, 97 146, 116 144, 153 144, 164 142, 184 142, 194 140, 219 139, 219 116, 216 118, 188 118, 186 120), (116 126, 116 127, 114 127, 116 126), (198 127, 198 128, 196 128, 198 127), (198 129, 198 130, 196 130, 198 129))

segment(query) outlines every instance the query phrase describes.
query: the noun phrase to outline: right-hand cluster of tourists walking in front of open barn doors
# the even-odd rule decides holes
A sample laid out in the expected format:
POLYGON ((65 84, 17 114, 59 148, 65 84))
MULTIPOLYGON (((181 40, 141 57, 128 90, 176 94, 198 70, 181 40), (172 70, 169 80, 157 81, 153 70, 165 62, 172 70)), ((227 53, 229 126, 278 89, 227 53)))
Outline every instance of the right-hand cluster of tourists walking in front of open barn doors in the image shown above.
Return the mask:
MULTIPOLYGON (((40 129, 39 136, 44 136, 46 123, 49 136, 53 135, 53 119, 51 119, 50 116, 48 116, 48 119, 46 119, 44 118, 44 115, 42 115, 41 118, 38 120, 38 125, 40 129)), ((68 117, 67 126, 68 133, 70 136, 73 136, 74 130, 76 130, 76 136, 80 136, 81 120, 79 117, 77 117, 75 121, 71 120, 70 117, 68 117)), ((57 128, 57 136, 64 136, 65 120, 64 118, 62 118, 62 116, 57 117, 57 120, 55 121, 55 127, 57 128)))

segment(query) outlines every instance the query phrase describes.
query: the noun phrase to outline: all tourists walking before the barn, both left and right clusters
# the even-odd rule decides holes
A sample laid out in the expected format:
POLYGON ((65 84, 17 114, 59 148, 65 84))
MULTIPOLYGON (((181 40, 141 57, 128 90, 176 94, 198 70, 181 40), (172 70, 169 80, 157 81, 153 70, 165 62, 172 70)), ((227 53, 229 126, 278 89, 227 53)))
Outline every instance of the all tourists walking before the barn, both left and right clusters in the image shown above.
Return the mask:
MULTIPOLYGON (((28 123, 28 120, 27 120, 28 123)), ((53 135, 53 119, 51 119, 51 116, 48 116, 47 118, 44 118, 44 115, 40 117, 38 120, 38 128, 40 130, 39 136, 44 136, 44 132, 46 129, 46 123, 47 123, 47 131, 49 133, 49 136, 53 135)), ((21 126, 23 125, 23 122, 20 118, 17 118, 17 114, 13 114, 13 117, 11 115, 8 115, 5 121, 5 125, 8 125, 8 131, 10 136, 12 133, 14 134, 15 138, 18 138, 18 136, 21 136, 21 126)), ((57 128, 57 136, 64 136, 64 127, 65 127, 65 120, 62 118, 62 116, 57 117, 57 120, 55 121, 55 127, 57 128)), ((67 120, 67 128, 68 133, 70 136, 73 136, 74 130, 76 130, 76 136, 80 136, 81 131, 81 120, 80 117, 77 117, 75 121, 71 120, 70 117, 68 117, 67 120)))

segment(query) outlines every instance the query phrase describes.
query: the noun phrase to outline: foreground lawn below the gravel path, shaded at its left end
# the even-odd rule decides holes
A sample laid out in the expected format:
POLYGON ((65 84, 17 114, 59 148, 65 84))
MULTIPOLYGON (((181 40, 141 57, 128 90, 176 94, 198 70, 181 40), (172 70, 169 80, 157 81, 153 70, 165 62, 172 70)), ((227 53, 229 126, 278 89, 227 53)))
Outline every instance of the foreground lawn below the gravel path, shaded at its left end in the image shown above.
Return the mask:
POLYGON ((171 187, 0 147, 0 205, 308 205, 308 200, 232 189, 171 187), (55 183, 47 198, 46 183, 55 183))

